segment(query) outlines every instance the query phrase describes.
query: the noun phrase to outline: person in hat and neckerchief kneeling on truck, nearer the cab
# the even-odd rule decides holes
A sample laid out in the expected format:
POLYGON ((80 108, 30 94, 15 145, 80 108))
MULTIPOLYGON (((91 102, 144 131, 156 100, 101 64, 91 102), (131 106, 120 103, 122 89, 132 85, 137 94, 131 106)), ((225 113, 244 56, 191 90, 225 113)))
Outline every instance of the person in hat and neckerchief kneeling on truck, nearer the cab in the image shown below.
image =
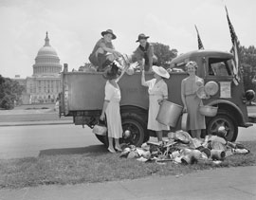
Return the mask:
POLYGON ((152 65, 157 62, 157 58, 154 54, 154 46, 148 43, 149 36, 141 33, 137 37, 139 45, 132 55, 132 61, 137 62, 140 66, 142 65, 142 60, 145 60, 145 70, 152 70, 152 65))

